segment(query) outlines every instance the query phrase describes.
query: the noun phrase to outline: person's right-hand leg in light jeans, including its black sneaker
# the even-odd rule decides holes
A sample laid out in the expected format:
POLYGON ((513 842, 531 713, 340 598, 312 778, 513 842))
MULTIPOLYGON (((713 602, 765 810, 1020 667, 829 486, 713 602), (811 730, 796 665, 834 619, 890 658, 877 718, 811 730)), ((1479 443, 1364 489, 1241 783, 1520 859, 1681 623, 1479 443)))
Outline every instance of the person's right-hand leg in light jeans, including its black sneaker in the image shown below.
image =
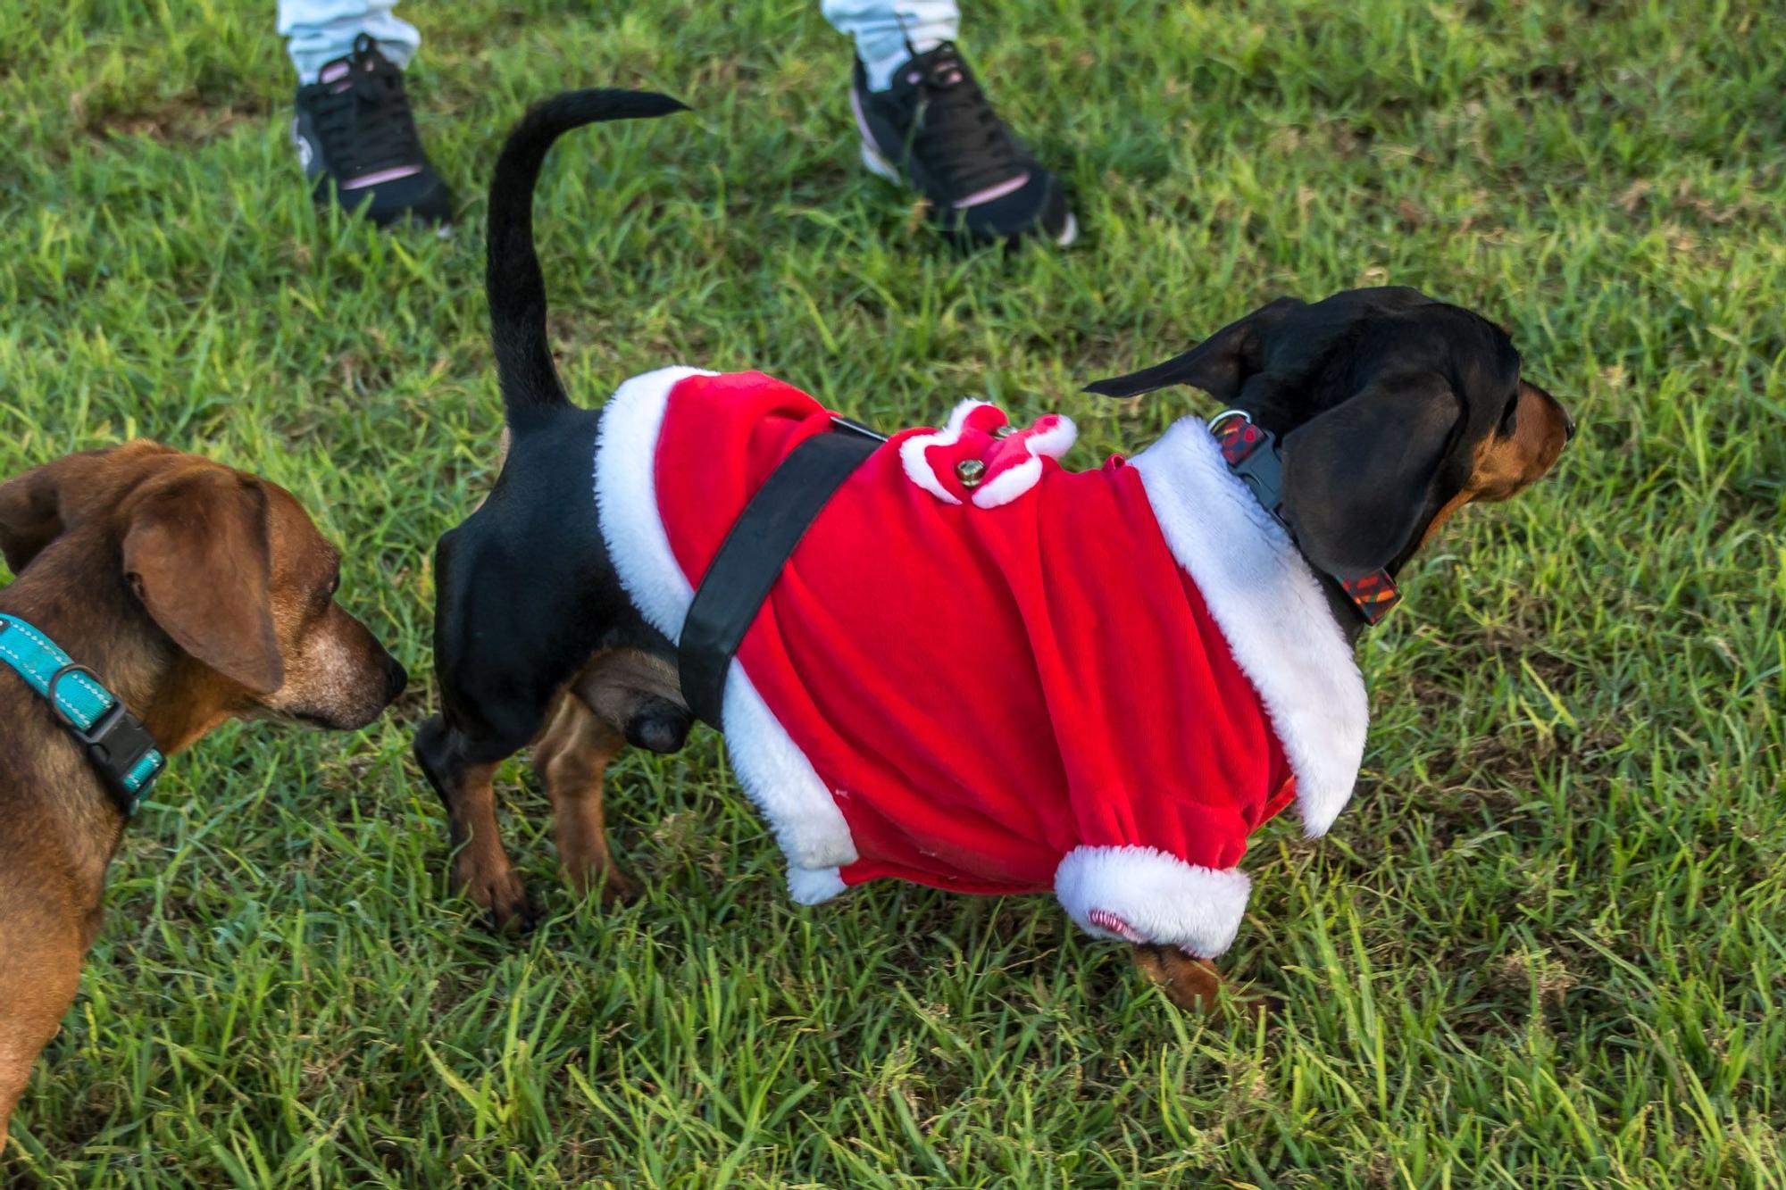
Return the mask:
POLYGON ((1011 134, 956 48, 956 0, 823 0, 823 13, 855 41, 863 164, 920 191, 968 238, 1077 238, 1061 180, 1011 134))

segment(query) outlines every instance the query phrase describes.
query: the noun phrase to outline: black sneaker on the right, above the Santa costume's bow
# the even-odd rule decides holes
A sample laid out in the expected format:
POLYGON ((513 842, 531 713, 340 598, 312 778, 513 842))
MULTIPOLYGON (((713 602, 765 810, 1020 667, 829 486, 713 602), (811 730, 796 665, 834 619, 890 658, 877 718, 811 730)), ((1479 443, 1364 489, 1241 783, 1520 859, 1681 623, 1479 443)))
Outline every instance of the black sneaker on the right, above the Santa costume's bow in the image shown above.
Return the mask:
POLYGON ((945 227, 975 239, 1039 234, 1061 247, 1079 236, 1061 180, 1011 134, 952 43, 900 66, 886 91, 868 89, 857 59, 850 107, 863 164, 929 198, 945 227))

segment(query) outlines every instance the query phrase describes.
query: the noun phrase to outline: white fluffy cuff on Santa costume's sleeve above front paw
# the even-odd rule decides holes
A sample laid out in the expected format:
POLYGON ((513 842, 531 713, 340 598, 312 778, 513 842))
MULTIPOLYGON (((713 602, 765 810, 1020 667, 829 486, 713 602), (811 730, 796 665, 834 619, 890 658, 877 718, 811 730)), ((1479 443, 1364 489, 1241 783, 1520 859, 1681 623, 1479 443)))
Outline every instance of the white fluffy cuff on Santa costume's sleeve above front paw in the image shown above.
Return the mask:
POLYGON ((1054 895, 1093 938, 1175 945, 1214 958, 1234 943, 1252 881, 1152 847, 1075 847, 1054 872, 1054 895))

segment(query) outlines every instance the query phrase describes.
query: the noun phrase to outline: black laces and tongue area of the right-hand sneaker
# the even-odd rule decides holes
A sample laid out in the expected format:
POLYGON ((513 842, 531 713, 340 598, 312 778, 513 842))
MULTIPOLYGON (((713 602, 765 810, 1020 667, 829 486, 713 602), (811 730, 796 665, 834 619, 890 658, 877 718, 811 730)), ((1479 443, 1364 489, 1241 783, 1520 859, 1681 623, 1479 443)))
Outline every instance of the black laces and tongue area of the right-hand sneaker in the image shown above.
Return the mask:
POLYGON ((945 41, 925 57, 913 63, 918 100, 913 152, 952 193, 1011 179, 1025 164, 1025 154, 956 46, 945 41))

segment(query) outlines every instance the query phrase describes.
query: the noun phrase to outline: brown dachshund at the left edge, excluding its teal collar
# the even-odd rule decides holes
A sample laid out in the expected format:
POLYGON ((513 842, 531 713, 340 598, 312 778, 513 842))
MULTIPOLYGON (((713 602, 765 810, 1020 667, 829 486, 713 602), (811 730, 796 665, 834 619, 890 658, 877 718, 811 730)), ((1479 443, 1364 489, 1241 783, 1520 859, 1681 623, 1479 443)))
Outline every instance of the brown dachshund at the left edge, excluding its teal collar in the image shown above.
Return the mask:
MULTIPOLYGON (((0 484, 0 611, 54 640, 164 754, 229 718, 350 731, 404 666, 334 602, 339 554, 289 491, 152 441, 0 484)), ((0 1144, 100 920, 125 813, 50 704, 0 668, 0 1144)))

